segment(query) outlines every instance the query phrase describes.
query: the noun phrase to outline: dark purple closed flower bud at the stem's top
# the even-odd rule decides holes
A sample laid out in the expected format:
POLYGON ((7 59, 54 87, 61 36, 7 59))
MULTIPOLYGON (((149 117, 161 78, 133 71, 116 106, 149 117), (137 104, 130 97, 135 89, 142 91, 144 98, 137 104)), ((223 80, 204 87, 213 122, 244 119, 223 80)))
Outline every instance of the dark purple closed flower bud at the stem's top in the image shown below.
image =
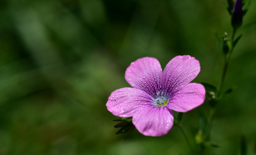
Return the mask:
POLYGON ((236 0, 233 6, 231 24, 234 29, 239 28, 243 23, 242 0, 236 0))

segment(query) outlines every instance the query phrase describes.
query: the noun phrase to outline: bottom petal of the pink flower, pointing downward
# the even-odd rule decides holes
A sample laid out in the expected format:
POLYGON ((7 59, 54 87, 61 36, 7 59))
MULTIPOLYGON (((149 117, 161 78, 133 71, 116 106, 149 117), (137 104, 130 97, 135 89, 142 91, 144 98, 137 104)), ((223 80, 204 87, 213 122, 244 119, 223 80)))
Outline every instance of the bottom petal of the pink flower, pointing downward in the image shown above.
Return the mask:
POLYGON ((145 136, 159 137, 173 126, 173 112, 166 107, 146 107, 132 118, 137 130, 145 136))

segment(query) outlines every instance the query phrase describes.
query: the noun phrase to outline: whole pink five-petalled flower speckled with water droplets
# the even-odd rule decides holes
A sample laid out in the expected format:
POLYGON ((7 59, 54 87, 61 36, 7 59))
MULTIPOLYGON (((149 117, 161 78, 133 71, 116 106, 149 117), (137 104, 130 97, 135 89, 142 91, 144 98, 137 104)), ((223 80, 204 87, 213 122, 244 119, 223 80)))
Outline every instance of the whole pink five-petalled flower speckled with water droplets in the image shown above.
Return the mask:
POLYGON ((111 93, 107 110, 117 117, 133 117, 145 136, 163 136, 173 126, 173 112, 187 112, 203 104, 205 89, 189 83, 200 72, 200 63, 189 55, 176 56, 164 72, 155 58, 140 58, 125 71, 125 87, 111 93))

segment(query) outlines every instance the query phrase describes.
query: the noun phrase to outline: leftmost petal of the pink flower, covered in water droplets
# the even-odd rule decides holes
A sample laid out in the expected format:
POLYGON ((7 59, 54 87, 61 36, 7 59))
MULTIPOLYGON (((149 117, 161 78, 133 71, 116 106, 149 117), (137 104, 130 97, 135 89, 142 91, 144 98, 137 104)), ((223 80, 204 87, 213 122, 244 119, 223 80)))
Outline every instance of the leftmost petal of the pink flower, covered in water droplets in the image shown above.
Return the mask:
POLYGON ((106 106, 117 117, 132 117, 138 110, 152 106, 152 102, 152 97, 145 91, 125 87, 112 92, 106 106))

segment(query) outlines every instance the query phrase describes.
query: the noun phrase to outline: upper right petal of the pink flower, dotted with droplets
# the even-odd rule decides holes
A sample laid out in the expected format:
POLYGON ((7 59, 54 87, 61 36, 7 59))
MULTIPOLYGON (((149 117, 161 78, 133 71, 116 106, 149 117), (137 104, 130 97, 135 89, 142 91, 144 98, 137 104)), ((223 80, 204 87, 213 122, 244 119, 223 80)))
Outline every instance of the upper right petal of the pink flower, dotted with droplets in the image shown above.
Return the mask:
POLYGON ((189 55, 176 56, 165 66, 163 72, 163 87, 166 94, 172 94, 188 84, 200 72, 200 63, 189 55))

